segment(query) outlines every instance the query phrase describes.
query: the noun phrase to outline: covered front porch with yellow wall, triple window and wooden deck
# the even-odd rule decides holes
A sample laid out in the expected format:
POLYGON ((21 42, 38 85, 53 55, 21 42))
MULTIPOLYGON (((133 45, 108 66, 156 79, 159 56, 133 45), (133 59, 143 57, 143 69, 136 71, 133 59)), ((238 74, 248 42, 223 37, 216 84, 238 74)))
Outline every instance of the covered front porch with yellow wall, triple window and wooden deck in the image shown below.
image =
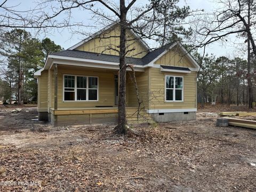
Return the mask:
MULTIPOLYGON (((153 122, 146 109, 136 111, 138 102, 134 83, 127 71, 127 123, 153 122)), ((48 119, 52 125, 115 124, 118 122, 118 70, 90 67, 53 65, 49 71, 48 119)), ((147 95, 147 73, 137 71, 138 86, 143 97, 147 95)), ((146 98, 146 97, 145 97, 146 98)), ((146 102, 147 103, 147 102, 146 102)))

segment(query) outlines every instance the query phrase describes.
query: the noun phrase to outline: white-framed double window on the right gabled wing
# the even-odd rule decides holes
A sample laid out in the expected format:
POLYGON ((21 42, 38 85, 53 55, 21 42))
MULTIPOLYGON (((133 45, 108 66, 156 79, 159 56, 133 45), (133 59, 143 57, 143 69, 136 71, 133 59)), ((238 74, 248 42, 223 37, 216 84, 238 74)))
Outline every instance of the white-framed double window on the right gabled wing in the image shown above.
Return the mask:
POLYGON ((165 77, 165 100, 182 101, 183 100, 183 77, 166 76, 165 77))

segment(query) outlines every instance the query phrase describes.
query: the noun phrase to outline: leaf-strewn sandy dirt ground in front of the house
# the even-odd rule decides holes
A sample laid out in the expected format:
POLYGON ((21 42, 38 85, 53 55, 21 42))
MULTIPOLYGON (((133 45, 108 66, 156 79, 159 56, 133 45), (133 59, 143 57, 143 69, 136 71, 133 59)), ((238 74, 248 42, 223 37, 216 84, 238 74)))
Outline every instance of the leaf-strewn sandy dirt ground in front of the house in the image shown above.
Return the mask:
POLYGON ((21 108, 0 108, 0 191, 256 191, 256 131, 217 127, 210 109, 120 137, 114 125, 52 127, 21 108))

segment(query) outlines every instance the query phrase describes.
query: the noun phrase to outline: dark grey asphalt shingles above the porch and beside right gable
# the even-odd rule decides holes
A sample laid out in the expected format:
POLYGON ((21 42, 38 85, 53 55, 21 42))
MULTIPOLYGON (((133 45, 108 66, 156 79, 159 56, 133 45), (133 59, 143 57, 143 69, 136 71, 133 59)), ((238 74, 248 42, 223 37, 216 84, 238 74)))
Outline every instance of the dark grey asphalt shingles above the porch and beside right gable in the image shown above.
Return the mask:
MULTIPOLYGON (((158 49, 149 52, 143 58, 131 58, 127 57, 126 62, 133 65, 147 65, 150 61, 153 61, 158 55, 163 53, 166 49, 168 49, 172 44, 168 44, 158 49)), ((70 57, 70 58, 80 58, 80 59, 91 59, 91 60, 98 60, 98 61, 108 61, 108 62, 119 62, 119 56, 117 55, 110 55, 110 54, 99 54, 87 51, 78 51, 78 50, 65 50, 53 53, 52 55, 58 55, 63 57, 70 57)))

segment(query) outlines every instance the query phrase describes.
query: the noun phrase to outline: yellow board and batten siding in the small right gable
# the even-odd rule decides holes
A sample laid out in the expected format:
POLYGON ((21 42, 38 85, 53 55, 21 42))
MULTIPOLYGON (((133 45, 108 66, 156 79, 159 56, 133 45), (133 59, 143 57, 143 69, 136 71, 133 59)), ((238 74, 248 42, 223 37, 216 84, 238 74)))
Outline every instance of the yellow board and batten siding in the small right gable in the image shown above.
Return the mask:
POLYGON ((165 53, 161 58, 156 60, 155 64, 194 68, 192 63, 187 59, 186 55, 175 47, 172 50, 165 53))

